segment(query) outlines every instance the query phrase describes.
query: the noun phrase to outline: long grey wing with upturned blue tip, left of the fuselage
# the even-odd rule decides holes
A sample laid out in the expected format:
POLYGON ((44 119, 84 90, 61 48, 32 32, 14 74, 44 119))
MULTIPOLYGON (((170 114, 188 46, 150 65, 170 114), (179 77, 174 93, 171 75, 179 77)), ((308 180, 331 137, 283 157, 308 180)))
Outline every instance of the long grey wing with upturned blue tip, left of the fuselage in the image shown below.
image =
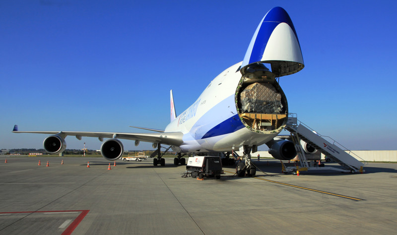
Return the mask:
POLYGON ((139 140, 143 142, 160 143, 166 145, 180 146, 183 143, 182 132, 159 132, 159 133, 128 133, 128 132, 88 132, 88 131, 19 131, 18 126, 15 125, 13 133, 36 133, 36 134, 53 134, 65 138, 68 135, 73 135, 77 139, 82 136, 97 137, 99 140, 103 138, 118 138, 139 140))

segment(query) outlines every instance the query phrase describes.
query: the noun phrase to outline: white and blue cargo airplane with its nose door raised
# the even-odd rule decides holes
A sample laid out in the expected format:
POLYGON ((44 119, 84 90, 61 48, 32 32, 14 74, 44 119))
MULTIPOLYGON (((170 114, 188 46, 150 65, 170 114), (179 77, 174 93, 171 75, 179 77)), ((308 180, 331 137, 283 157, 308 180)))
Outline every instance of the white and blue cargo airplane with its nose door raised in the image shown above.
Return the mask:
MULTIPOLYGON (((124 147, 119 139, 153 143, 158 157, 153 164, 164 166, 161 145, 171 146, 178 158, 174 164, 185 164, 184 153, 244 151, 245 163, 237 166, 239 175, 255 175, 250 153, 266 144, 276 159, 290 160, 296 156, 294 144, 276 136, 288 118, 287 98, 277 78, 303 69, 304 63, 298 36, 288 13, 281 7, 269 10, 261 20, 242 62, 238 62, 216 76, 193 105, 176 116, 171 90, 171 122, 164 130, 137 127, 153 133, 84 132, 84 131, 19 131, 14 133, 50 134, 43 142, 50 154, 66 149, 68 135, 81 140, 82 136, 103 141, 102 156, 120 159, 124 147), (266 65, 269 67, 267 68, 266 65)), ((132 126, 135 127, 135 126, 132 126)))

